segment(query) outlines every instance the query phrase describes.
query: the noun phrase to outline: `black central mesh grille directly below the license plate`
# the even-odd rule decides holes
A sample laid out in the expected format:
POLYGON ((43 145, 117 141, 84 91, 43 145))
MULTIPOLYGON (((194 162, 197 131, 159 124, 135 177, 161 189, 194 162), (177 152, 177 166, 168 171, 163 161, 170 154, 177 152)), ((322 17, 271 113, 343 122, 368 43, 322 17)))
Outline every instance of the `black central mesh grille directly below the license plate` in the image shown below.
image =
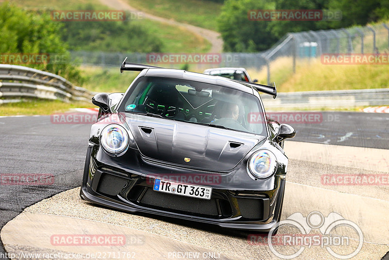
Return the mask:
POLYGON ((180 212, 191 212, 200 215, 218 216, 217 204, 215 199, 204 200, 179 196, 150 188, 146 190, 141 198, 141 204, 152 205, 156 208, 168 208, 180 212))

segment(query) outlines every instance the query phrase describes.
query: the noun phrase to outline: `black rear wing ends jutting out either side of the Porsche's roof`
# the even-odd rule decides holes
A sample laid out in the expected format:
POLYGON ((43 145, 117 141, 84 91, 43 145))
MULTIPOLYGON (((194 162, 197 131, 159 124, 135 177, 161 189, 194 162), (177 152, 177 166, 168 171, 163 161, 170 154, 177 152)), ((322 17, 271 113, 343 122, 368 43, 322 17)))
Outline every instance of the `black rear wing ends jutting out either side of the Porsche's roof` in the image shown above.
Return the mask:
MULTIPOLYGON (((142 71, 145 69, 163 69, 161 67, 156 67, 152 65, 145 65, 145 64, 139 64, 139 63, 132 63, 132 62, 126 62, 127 57, 124 59, 122 66, 120 67, 120 72, 124 71, 142 71)), ((273 86, 267 86, 263 84, 257 84, 253 82, 247 82, 247 81, 241 81, 241 80, 234 80, 235 82, 239 82, 241 84, 246 84, 249 87, 254 88, 256 91, 272 95, 273 98, 276 98, 277 96, 277 89, 276 89, 276 83, 273 82, 273 86)))

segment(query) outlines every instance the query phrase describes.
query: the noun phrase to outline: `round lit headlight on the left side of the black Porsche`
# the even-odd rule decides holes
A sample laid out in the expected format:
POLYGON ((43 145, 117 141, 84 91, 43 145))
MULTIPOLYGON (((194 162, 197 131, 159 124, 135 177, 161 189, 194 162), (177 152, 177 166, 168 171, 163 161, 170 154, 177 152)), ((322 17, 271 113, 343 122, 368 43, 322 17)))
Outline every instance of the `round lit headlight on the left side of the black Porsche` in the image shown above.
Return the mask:
POLYGON ((110 153, 120 153, 128 147, 128 133, 119 125, 108 125, 101 131, 100 144, 110 153))

